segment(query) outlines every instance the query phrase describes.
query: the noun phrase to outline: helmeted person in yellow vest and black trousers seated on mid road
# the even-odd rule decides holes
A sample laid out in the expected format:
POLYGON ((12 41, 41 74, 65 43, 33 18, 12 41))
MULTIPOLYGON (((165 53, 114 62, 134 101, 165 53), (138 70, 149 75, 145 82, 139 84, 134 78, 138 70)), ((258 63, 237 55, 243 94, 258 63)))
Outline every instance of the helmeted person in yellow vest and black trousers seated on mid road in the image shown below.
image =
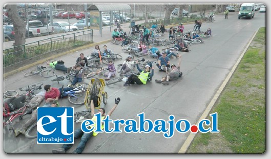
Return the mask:
POLYGON ((151 80, 153 74, 154 74, 154 67, 152 67, 152 63, 149 63, 149 65, 145 66, 145 70, 141 70, 138 66, 138 61, 136 61, 136 68, 140 72, 139 75, 131 74, 128 77, 128 80, 126 83, 124 83, 123 86, 130 86, 130 84, 138 84, 138 85, 145 85, 148 81, 151 80), (150 73, 150 69, 152 68, 152 73, 150 73))

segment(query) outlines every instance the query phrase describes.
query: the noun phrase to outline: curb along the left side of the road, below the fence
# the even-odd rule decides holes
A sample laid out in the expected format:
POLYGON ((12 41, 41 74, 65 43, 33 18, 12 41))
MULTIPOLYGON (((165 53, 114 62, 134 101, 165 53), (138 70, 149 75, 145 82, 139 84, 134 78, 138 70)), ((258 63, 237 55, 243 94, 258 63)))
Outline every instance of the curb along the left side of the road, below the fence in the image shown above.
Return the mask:
POLYGON ((72 50, 69 50, 69 51, 65 51, 65 52, 62 52, 62 53, 59 53, 59 54, 50 56, 50 57, 48 57, 48 58, 40 59, 40 60, 38 60, 38 61, 36 61, 36 62, 34 62, 34 63, 32 63, 32 64, 29 64, 29 65, 20 67, 20 68, 18 68, 18 69, 16 69, 16 70, 13 70, 13 71, 10 71, 10 72, 7 72, 7 73, 4 73, 4 74, 3 74, 3 77, 5 78, 5 77, 7 77, 7 76, 9 76, 9 75, 12 75, 12 74, 14 74, 14 73, 17 73, 17 72, 19 72, 19 71, 23 71, 23 70, 29 69, 30 67, 33 67, 33 66, 35 66, 35 65, 42 64, 42 63, 44 63, 44 62, 46 62, 46 61, 48 61, 48 60, 50 60, 50 59, 52 59, 52 58, 56 58, 56 57, 59 57, 59 56, 63 56, 63 55, 66 55, 66 54, 68 54, 68 53, 75 52, 75 51, 77 51, 77 50, 87 49, 87 48, 92 47, 92 46, 95 46, 95 45, 100 45, 100 44, 103 44, 103 43, 108 43, 108 42, 110 42, 110 41, 111 41, 111 39, 108 39, 108 40, 106 40, 106 41, 97 42, 97 43, 92 43, 92 44, 89 44, 89 45, 86 45, 86 46, 78 47, 78 48, 75 48, 75 49, 72 49, 72 50))

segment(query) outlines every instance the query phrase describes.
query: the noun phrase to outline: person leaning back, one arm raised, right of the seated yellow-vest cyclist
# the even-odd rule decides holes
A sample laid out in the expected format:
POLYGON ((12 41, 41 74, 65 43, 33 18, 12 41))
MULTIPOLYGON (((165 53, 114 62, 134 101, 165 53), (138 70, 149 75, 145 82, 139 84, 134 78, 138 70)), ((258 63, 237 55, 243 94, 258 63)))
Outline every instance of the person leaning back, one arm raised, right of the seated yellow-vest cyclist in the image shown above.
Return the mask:
POLYGON ((180 71, 180 66, 181 66, 181 56, 179 56, 178 66, 176 67, 176 65, 174 64, 171 65, 171 69, 172 69, 171 72, 168 72, 168 69, 165 68, 166 75, 162 77, 162 79, 160 80, 155 79, 155 82, 162 83, 163 85, 169 85, 169 81, 173 81, 180 78, 182 76, 182 72, 180 71))

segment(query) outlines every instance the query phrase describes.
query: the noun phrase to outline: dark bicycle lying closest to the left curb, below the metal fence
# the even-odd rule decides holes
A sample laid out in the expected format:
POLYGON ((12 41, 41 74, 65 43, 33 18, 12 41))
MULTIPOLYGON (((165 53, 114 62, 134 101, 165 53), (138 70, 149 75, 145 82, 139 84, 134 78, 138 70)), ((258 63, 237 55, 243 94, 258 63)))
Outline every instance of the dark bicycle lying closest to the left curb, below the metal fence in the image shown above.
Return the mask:
POLYGON ((52 77, 55 75, 55 69, 54 68, 48 69, 43 66, 37 66, 35 70, 25 73, 24 76, 27 77, 34 74, 39 74, 41 77, 52 77))

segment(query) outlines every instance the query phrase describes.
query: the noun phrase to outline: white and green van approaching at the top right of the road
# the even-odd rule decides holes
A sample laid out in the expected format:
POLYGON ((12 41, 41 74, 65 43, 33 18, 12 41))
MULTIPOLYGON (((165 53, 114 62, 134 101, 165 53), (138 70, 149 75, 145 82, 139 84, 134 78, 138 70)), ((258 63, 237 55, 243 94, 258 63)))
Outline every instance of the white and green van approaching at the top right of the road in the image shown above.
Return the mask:
POLYGON ((253 18, 255 14, 255 4, 254 3, 243 3, 240 7, 238 14, 238 19, 241 17, 248 17, 249 19, 253 18))

